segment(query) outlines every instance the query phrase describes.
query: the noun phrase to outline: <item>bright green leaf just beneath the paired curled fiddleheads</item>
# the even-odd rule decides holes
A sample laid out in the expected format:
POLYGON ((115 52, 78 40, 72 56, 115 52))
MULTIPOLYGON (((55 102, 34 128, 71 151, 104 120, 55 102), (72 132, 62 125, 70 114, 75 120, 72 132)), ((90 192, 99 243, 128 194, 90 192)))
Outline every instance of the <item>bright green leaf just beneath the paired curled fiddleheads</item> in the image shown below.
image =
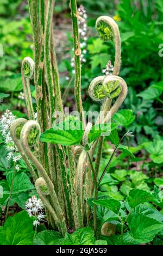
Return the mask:
POLYGON ((115 130, 117 126, 118 124, 116 123, 93 125, 89 133, 89 142, 91 143, 101 135, 102 136, 110 135, 110 132, 115 130))

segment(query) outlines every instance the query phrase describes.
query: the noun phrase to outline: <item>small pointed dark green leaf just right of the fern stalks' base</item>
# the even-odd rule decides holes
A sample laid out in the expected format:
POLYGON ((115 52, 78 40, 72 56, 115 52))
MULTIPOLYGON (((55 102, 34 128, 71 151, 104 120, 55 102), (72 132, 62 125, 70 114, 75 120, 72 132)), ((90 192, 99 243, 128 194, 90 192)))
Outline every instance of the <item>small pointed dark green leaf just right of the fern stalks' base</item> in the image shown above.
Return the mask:
POLYGON ((110 209, 111 211, 115 212, 115 214, 118 214, 121 208, 121 203, 115 199, 102 199, 102 200, 94 200, 94 204, 101 205, 107 209, 110 209))

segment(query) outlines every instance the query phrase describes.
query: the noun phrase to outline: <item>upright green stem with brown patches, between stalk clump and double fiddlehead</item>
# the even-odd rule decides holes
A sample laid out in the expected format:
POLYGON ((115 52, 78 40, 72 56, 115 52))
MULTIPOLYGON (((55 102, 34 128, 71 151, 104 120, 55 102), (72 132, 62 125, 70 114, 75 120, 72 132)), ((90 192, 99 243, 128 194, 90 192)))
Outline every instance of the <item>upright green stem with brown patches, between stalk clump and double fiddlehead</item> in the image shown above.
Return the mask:
POLYGON ((78 13, 77 13, 77 1, 70 0, 71 5, 71 16, 73 26, 73 42, 74 42, 74 63, 75 63, 75 83, 74 83, 74 94, 76 97, 77 111, 80 113, 81 120, 83 118, 83 106, 82 106, 82 95, 81 95, 81 64, 80 64, 80 39, 79 39, 79 28, 78 28, 78 13))

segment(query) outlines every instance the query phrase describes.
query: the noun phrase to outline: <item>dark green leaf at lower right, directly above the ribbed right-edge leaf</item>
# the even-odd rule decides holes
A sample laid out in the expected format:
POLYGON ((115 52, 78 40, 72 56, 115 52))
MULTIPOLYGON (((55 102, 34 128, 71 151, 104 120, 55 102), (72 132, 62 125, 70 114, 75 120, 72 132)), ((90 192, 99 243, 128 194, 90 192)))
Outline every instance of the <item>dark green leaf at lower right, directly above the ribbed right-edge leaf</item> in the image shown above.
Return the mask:
POLYGON ((154 198, 151 193, 145 190, 134 189, 129 192, 128 203, 131 208, 134 208, 136 205, 145 203, 145 202, 153 202, 154 198))

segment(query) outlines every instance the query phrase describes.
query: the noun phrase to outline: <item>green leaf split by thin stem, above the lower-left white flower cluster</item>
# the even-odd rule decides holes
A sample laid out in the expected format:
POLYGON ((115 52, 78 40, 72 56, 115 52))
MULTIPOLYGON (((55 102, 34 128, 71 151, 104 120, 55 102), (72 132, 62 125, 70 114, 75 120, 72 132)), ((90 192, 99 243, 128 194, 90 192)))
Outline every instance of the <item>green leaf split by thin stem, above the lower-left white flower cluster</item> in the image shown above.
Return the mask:
MULTIPOLYGON (((11 186, 12 175, 12 172, 9 172, 7 175, 7 181, 9 186, 11 186)), ((12 194, 26 192, 28 190, 33 190, 34 188, 34 185, 30 182, 30 179, 26 173, 17 173, 15 175, 12 194)))

